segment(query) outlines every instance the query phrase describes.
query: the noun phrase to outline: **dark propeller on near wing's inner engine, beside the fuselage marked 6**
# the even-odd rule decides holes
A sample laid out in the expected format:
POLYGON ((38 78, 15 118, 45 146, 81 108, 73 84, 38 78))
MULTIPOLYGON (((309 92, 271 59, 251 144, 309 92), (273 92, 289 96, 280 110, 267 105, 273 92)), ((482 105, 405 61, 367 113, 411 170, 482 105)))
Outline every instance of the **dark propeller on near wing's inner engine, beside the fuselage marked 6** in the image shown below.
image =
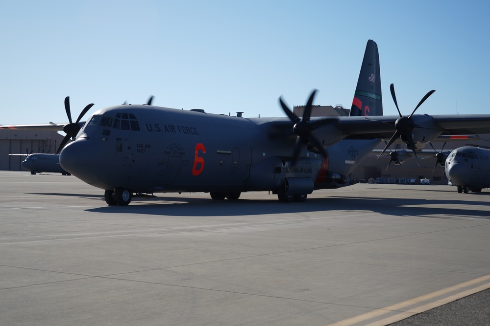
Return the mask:
POLYGON ((317 92, 317 89, 314 89, 311 92, 310 98, 308 99, 308 102, 306 103, 305 110, 303 112, 303 117, 300 119, 296 114, 293 113, 291 109, 288 108, 288 106, 284 103, 282 100, 282 97, 279 97, 279 103, 281 104, 281 108, 284 110, 286 115, 290 118, 290 120, 293 122, 293 128, 289 130, 289 134, 284 134, 284 136, 289 136, 292 134, 296 134, 296 141, 294 143, 294 151, 293 151, 293 161, 292 164, 296 163, 296 160, 299 156, 299 152, 301 151, 301 146, 306 145, 308 143, 313 144, 313 146, 321 152, 321 155, 323 158, 327 157, 327 152, 321 146, 320 141, 313 136, 311 133, 315 128, 321 126, 322 124, 325 124, 325 120, 317 120, 314 122, 310 122, 310 117, 311 117, 311 109, 313 105, 313 99, 315 98, 315 93, 317 92))

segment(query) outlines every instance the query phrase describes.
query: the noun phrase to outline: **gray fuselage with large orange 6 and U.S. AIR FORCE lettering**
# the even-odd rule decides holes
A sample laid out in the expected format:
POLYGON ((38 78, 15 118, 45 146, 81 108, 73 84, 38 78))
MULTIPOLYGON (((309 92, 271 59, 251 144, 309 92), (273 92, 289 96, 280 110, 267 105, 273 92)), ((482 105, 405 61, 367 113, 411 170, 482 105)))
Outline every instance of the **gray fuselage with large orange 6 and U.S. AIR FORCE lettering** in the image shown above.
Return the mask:
POLYGON ((60 162, 88 184, 134 193, 287 187, 289 194, 299 195, 345 182, 328 171, 328 158, 306 147, 294 166, 290 163, 295 137, 269 135, 290 125, 286 118, 123 105, 94 113, 63 149, 60 162))

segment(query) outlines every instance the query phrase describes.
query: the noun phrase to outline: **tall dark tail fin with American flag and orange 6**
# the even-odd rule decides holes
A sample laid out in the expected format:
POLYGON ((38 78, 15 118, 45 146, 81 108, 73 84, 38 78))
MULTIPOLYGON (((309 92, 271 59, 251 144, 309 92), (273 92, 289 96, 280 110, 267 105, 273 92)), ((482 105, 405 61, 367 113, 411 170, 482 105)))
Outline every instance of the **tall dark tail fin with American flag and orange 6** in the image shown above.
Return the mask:
POLYGON ((366 44, 363 64, 349 115, 383 115, 378 45, 373 40, 369 40, 366 44))

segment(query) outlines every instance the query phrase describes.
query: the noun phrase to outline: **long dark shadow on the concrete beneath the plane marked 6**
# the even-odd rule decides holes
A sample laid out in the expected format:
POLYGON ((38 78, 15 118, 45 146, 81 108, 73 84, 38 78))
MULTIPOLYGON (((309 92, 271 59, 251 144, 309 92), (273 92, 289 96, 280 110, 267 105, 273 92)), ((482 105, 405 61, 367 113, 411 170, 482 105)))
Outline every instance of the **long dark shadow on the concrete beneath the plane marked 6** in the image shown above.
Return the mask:
MULTIPOLYGON (((102 199, 101 199, 102 200, 102 199)), ((413 199, 348 196, 329 196, 325 198, 308 198, 304 203, 280 203, 274 199, 238 199, 213 200, 192 197, 153 197, 134 198, 129 206, 104 206, 87 209, 88 212, 107 214, 142 214, 159 216, 191 216, 191 217, 225 217, 247 215, 274 215, 306 212, 324 212, 343 210, 346 212, 373 212, 382 215, 418 216, 431 218, 490 218, 489 210, 471 209, 471 205, 490 206, 490 203, 468 200, 413 199), (447 205, 461 205, 454 208, 447 205), (436 207, 413 207, 430 205, 436 207)))

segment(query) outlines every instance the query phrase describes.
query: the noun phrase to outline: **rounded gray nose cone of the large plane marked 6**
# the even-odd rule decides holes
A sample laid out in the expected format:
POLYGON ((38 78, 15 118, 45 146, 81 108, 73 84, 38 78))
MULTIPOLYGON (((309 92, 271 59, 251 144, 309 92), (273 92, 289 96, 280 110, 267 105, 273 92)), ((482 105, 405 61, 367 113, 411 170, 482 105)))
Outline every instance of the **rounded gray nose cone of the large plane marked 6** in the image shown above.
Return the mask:
POLYGON ((104 173, 107 152, 97 142, 80 138, 68 144, 60 153, 60 165, 88 184, 100 180, 104 173))

